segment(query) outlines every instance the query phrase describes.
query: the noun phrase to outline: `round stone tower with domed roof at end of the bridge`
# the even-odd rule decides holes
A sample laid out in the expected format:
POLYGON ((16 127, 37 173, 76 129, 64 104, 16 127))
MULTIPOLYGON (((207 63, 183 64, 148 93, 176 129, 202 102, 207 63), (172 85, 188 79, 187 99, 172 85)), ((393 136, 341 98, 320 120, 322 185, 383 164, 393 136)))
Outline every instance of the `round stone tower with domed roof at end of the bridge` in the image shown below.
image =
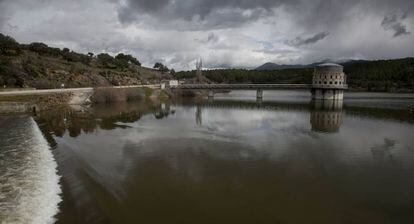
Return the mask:
POLYGON ((312 99, 342 100, 348 88, 343 66, 333 63, 315 67, 312 78, 312 99))

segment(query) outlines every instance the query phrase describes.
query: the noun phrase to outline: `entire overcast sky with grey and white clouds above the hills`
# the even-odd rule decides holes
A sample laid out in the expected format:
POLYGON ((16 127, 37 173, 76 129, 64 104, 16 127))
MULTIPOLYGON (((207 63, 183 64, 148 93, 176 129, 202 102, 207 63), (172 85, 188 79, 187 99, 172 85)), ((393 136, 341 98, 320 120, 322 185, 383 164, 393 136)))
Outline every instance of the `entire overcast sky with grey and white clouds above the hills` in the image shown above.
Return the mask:
POLYGON ((23 43, 176 70, 414 56, 413 0, 0 0, 23 43))

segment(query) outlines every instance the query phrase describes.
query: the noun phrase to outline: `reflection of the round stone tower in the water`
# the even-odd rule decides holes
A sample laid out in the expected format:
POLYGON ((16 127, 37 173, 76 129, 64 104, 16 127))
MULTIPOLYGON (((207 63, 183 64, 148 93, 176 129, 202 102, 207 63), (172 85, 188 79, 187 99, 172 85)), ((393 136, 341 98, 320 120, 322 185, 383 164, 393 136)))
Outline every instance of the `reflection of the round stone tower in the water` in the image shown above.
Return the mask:
POLYGON ((342 100, 313 101, 310 122, 312 131, 338 132, 342 124, 342 100))

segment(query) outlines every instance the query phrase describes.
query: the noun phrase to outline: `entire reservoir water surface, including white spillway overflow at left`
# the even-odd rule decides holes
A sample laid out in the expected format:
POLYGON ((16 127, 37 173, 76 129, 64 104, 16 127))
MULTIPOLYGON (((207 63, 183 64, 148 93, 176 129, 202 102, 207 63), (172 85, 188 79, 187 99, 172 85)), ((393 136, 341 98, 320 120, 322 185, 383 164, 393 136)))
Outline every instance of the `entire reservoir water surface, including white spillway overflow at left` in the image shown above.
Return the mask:
POLYGON ((309 99, 234 91, 1 117, 0 220, 414 223, 414 95, 309 99))

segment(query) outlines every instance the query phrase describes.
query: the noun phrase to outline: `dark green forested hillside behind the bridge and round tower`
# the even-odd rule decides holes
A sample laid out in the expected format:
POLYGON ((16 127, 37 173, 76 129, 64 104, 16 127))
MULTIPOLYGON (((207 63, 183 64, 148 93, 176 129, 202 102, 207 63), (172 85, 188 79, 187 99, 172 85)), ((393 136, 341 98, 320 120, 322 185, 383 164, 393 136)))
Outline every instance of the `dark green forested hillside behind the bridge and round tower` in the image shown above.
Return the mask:
MULTIPOLYGON (((350 61, 342 64, 351 89, 367 91, 414 91, 414 58, 350 61)), ((206 70, 203 75, 218 83, 311 83, 313 69, 272 71, 246 69, 206 70)), ((178 79, 193 78, 195 71, 178 72, 178 79)))

